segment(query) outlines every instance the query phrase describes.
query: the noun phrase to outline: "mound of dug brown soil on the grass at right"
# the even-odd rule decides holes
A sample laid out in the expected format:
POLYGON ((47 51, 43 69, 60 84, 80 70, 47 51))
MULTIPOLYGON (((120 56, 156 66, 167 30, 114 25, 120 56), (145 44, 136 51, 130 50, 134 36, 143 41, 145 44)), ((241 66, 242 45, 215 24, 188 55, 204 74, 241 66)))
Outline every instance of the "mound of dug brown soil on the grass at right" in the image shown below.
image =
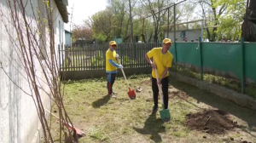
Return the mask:
POLYGON ((237 122, 230 120, 227 112, 219 110, 189 113, 186 117, 186 124, 190 129, 205 131, 208 134, 224 134, 225 130, 232 130, 237 126, 237 122))

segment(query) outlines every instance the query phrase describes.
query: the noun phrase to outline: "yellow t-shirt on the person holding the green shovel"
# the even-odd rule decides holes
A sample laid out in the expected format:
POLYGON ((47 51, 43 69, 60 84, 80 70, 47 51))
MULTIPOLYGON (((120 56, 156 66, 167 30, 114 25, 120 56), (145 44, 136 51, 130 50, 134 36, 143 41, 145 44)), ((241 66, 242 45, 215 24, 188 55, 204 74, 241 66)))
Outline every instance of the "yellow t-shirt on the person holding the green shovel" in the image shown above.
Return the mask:
MULTIPOLYGON (((165 72, 166 67, 172 67, 173 56, 169 51, 167 51, 166 54, 162 54, 162 48, 154 48, 151 49, 147 55, 149 59, 153 57, 159 78, 165 72)), ((169 76, 169 71, 166 73, 165 77, 167 76, 169 76)), ((152 70, 152 77, 156 78, 154 70, 152 70)))

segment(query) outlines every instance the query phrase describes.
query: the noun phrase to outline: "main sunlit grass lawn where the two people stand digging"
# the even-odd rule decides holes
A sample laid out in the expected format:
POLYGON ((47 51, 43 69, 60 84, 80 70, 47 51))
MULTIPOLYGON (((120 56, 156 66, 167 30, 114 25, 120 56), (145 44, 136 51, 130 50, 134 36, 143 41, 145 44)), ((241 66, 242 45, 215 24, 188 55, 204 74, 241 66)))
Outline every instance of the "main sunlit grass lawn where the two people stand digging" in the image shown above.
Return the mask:
MULTIPOLYGON (((131 89, 143 88, 141 93, 137 93, 136 100, 128 98, 128 89, 123 77, 117 77, 113 85, 113 89, 118 92, 117 99, 108 97, 105 77, 65 83, 64 104, 67 113, 73 124, 86 133, 79 142, 223 142, 230 137, 235 139, 237 137, 236 140, 239 140, 241 136, 256 141, 250 135, 256 135, 251 129, 256 127, 256 123, 251 121, 256 112, 241 109, 229 100, 219 99, 214 94, 171 79, 169 86, 171 93, 185 92, 189 95, 189 99, 182 100, 177 96, 170 99, 171 122, 163 123, 159 112, 150 115, 153 101, 146 101, 152 98, 149 75, 131 76, 128 79, 131 89), (240 131, 242 133, 240 136, 235 131, 222 135, 209 135, 186 126, 187 113, 200 112, 213 107, 227 110, 238 121, 241 120, 239 123, 246 129, 240 131), (206 135, 207 139, 203 139, 203 135, 206 135)), ((57 111, 55 106, 52 110, 57 111)), ((58 112, 55 114, 57 115, 58 112)), ((57 120, 53 119, 51 123, 52 134, 57 139, 59 136, 57 120)))

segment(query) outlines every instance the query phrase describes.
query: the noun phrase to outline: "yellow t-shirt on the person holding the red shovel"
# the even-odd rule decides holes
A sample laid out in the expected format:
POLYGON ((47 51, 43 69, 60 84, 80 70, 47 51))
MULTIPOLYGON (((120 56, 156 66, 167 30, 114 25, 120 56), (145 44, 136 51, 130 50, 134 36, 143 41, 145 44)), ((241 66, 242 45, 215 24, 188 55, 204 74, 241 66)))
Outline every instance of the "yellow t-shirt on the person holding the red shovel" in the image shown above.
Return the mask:
POLYGON ((115 63, 117 63, 116 60, 116 52, 115 50, 108 49, 106 52, 106 71, 107 72, 113 72, 117 70, 117 67, 112 66, 108 60, 113 60, 115 63))

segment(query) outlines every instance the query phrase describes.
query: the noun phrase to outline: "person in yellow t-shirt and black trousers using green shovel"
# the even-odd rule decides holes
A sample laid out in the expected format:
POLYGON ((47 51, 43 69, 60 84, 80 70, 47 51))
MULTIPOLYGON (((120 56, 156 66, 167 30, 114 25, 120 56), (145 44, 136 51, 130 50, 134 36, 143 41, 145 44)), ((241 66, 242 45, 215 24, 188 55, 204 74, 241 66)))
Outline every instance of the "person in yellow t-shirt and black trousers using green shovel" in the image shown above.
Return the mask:
POLYGON ((172 41, 169 38, 165 38, 163 40, 162 48, 154 48, 148 51, 145 55, 145 58, 148 60, 148 63, 152 66, 152 68, 157 70, 159 83, 157 83, 154 69, 152 69, 152 90, 154 97, 154 106, 152 113, 156 113, 158 110, 158 94, 159 89, 157 84, 162 84, 162 92, 164 94, 164 104, 165 109, 168 109, 168 76, 169 76, 169 68, 172 67, 172 59, 173 56, 169 52, 169 49, 172 45, 172 41), (153 58, 154 63, 150 60, 153 58))

